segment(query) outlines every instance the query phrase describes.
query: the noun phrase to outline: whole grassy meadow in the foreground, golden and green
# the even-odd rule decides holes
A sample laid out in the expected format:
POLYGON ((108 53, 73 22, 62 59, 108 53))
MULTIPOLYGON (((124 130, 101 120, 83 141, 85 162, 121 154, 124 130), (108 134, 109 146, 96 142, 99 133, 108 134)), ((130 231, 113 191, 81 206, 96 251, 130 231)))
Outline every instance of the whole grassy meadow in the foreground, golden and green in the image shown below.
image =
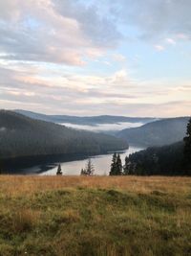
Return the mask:
POLYGON ((0 175, 0 255, 191 255, 191 178, 0 175))

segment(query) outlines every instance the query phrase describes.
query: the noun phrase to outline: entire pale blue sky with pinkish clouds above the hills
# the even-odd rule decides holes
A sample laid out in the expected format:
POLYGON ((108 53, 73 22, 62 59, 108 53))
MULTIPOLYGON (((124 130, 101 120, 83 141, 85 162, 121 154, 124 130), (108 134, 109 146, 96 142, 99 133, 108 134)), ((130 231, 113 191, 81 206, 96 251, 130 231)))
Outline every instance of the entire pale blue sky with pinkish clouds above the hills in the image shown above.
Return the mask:
POLYGON ((0 0, 0 108, 191 114, 190 0, 0 0))

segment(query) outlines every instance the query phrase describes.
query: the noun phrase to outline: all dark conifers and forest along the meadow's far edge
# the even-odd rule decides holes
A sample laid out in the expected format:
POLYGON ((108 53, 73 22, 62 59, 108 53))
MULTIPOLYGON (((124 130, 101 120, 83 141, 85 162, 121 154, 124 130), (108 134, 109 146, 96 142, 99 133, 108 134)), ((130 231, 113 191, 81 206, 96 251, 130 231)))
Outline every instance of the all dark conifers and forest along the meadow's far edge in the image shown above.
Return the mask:
MULTIPOLYGON (((94 175, 91 158, 80 175, 94 175)), ((62 175, 58 165, 57 175, 62 175)), ((148 148, 125 157, 122 164, 120 154, 114 153, 109 175, 191 175, 191 119, 187 124, 183 141, 158 148, 148 148)))

